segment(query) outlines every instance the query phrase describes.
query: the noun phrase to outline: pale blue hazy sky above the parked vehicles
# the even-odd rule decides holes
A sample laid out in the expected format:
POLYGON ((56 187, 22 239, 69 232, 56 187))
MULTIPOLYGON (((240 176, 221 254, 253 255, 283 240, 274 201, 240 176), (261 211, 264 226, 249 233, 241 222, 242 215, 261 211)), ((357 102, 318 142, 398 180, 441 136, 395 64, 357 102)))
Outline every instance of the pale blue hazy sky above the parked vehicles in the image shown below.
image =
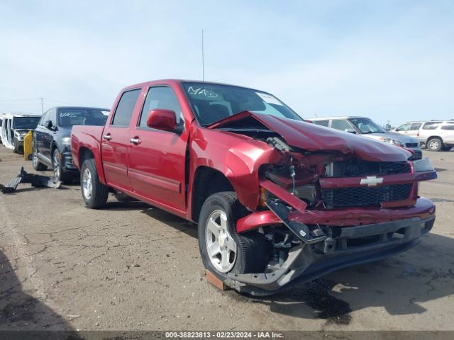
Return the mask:
POLYGON ((454 118, 454 1, 435 0, 0 0, 0 112, 40 113, 39 97, 110 107, 130 84, 201 79, 202 28, 206 80, 305 118, 454 118))

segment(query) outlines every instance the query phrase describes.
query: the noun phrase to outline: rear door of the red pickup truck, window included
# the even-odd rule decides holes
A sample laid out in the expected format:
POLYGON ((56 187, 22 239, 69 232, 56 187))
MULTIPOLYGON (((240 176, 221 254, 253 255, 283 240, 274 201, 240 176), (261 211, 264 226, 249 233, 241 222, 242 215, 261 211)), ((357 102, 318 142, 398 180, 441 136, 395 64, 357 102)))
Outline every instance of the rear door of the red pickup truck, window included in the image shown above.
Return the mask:
POLYGON ((140 91, 141 89, 131 89, 121 94, 101 137, 106 182, 124 191, 131 191, 131 182, 128 179, 128 150, 131 146, 129 135, 133 113, 138 110, 140 91))

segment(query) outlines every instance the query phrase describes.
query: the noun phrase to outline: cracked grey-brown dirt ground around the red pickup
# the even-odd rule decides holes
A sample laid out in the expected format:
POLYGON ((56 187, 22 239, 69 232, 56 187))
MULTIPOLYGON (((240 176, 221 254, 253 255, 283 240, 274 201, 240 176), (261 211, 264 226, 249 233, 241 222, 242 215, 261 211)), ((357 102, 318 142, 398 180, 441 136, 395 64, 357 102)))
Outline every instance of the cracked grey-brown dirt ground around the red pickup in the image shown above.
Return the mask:
MULTIPOLYGON (((454 150, 424 156, 437 220, 419 246, 266 298, 206 283, 196 230, 150 205, 89 210, 78 185, 0 193, 0 329, 452 330, 454 150)), ((0 183, 35 172, 0 159, 0 183)))

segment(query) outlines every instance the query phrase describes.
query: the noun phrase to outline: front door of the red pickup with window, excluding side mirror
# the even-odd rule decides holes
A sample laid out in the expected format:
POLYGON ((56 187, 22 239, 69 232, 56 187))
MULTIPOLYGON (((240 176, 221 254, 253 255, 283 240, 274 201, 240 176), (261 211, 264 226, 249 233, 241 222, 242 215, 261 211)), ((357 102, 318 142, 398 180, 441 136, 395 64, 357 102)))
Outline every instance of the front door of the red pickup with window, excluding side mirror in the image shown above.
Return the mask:
POLYGON ((184 215, 188 137, 182 108, 172 87, 151 86, 137 123, 131 128, 128 177, 135 196, 184 215), (180 132, 149 128, 148 113, 156 108, 174 111, 180 132))

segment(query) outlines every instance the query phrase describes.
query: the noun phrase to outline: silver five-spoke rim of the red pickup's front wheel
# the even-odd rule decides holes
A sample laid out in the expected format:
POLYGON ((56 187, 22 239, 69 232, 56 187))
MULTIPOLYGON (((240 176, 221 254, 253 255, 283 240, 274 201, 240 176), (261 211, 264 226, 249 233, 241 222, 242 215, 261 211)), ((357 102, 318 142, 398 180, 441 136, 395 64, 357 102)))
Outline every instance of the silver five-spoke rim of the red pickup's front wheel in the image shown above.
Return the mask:
POLYGON ((211 264, 221 273, 231 271, 236 261, 236 242, 228 232, 226 212, 215 210, 206 222, 206 252, 211 264))

